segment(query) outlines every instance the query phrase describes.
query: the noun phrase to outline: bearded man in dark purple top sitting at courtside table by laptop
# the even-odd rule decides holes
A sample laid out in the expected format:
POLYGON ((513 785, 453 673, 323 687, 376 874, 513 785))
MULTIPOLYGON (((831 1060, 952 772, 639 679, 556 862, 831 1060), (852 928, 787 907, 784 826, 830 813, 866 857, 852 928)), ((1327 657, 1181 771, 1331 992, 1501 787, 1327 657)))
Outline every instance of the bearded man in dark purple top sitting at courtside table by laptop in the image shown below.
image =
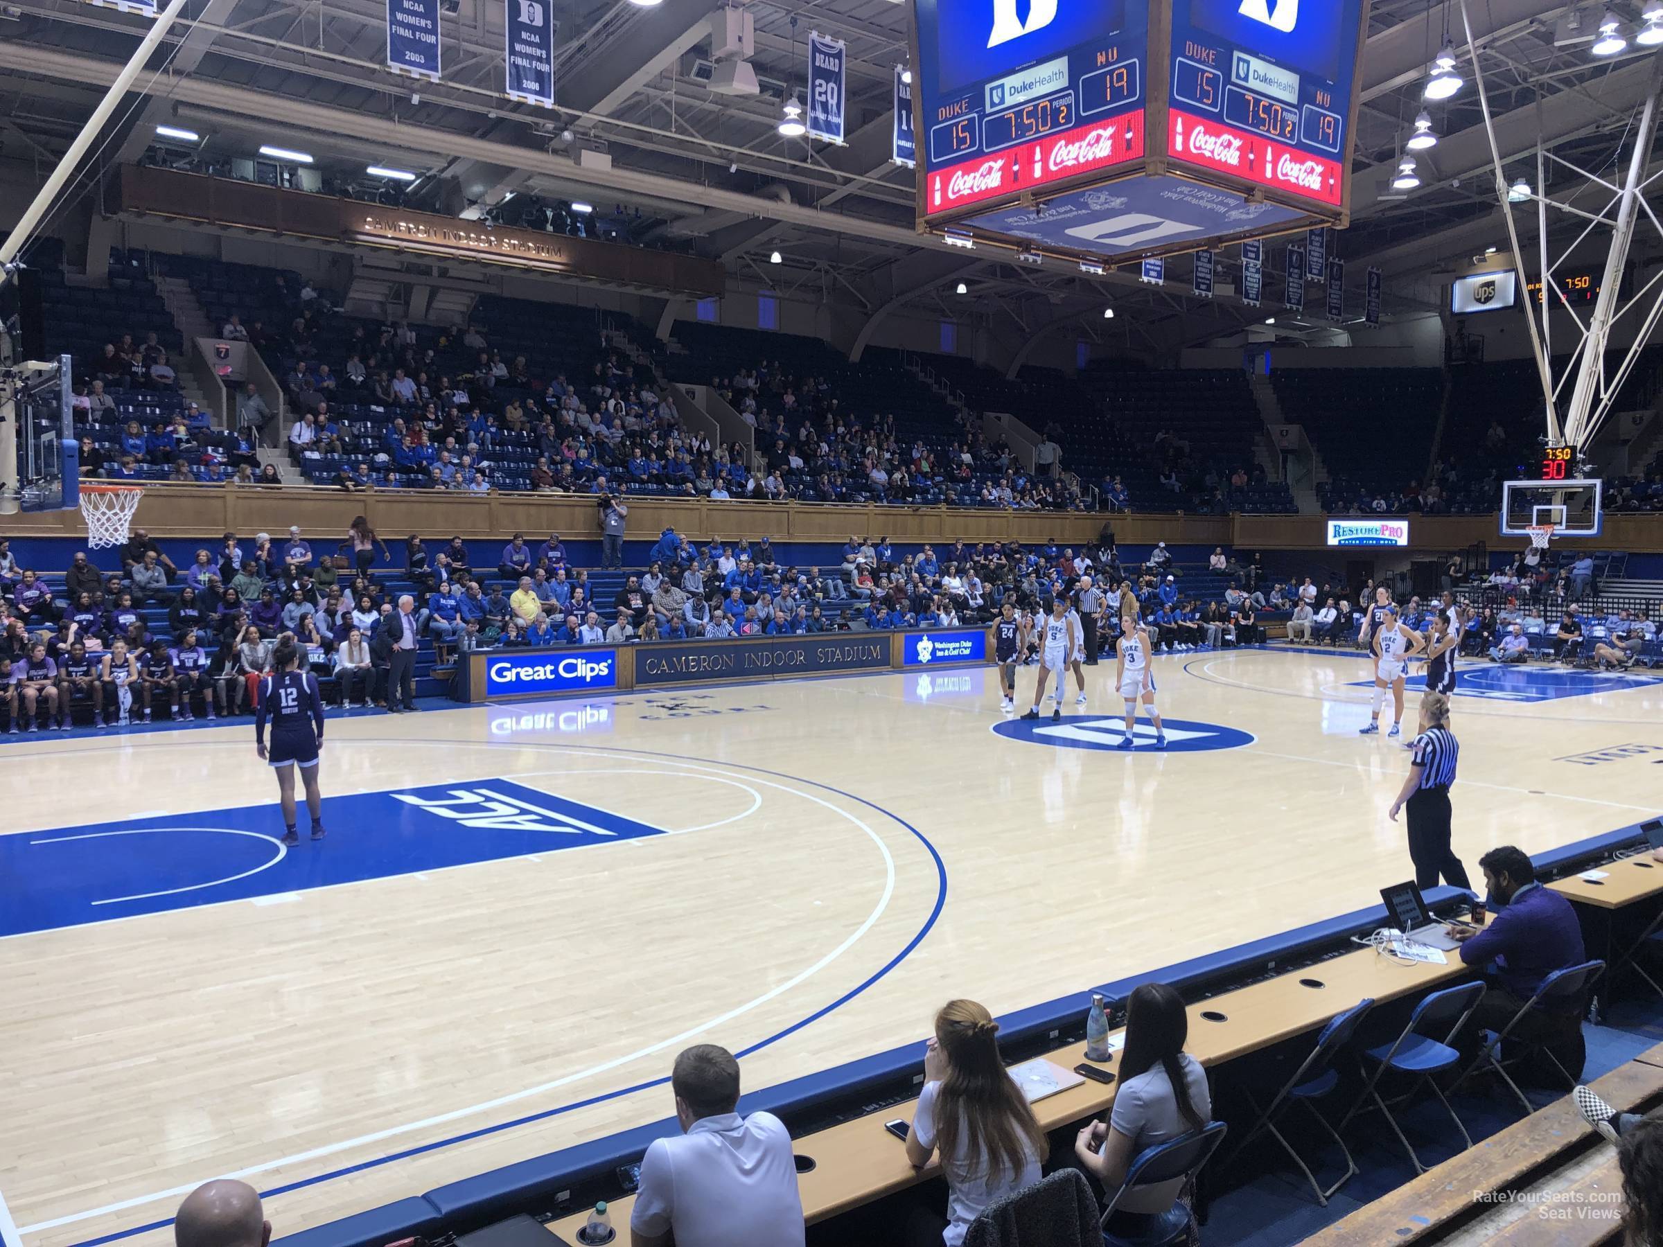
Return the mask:
MULTIPOLYGON (((1460 944, 1462 964, 1483 969, 1488 988, 1465 1028, 1472 1038, 1478 1029, 1505 1028, 1548 974, 1585 959, 1577 911, 1560 893, 1537 883, 1535 866, 1523 850, 1512 845, 1492 848, 1478 858, 1478 868, 1488 890, 1490 923, 1483 929, 1448 928, 1450 938, 1460 944)), ((1555 1044, 1555 1056, 1575 1077, 1582 1071, 1583 1054, 1580 1019, 1580 999, 1555 1001, 1532 1011, 1513 1034, 1522 1039, 1558 1039, 1563 1051, 1555 1044)))

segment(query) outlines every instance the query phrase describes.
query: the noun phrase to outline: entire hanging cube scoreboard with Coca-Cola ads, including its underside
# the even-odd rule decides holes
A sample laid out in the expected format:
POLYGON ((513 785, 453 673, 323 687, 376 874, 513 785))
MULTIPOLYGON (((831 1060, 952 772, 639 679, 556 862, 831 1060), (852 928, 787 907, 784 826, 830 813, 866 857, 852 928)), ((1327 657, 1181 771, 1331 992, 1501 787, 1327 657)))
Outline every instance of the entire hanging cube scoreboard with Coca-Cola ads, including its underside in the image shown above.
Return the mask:
POLYGON ((1128 258, 1345 224, 1367 2, 913 0, 920 229, 1128 258))

